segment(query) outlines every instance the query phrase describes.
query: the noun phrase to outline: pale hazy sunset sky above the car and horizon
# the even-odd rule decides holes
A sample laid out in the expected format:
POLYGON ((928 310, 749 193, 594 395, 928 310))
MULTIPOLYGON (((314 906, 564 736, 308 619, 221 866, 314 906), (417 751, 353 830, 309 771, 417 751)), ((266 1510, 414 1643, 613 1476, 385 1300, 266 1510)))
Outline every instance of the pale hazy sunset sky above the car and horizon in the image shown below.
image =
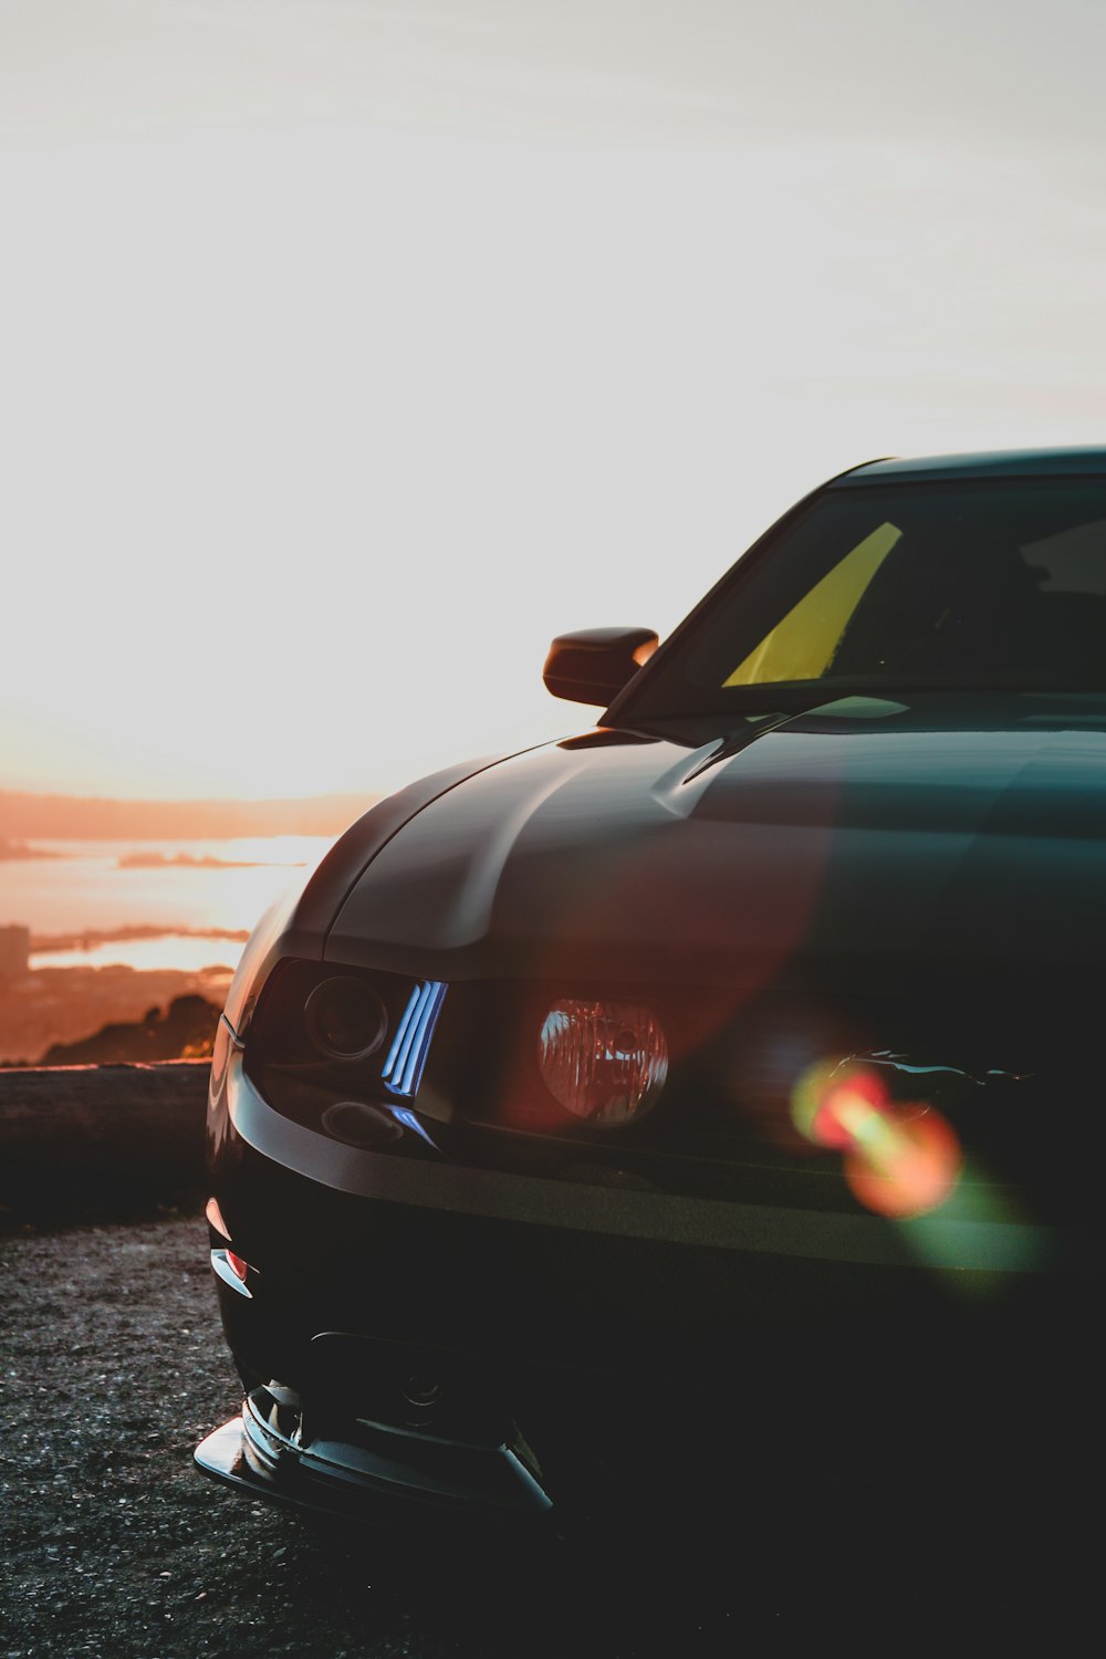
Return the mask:
POLYGON ((1098 0, 0 0, 0 788, 594 722, 884 455, 1106 443, 1098 0))

